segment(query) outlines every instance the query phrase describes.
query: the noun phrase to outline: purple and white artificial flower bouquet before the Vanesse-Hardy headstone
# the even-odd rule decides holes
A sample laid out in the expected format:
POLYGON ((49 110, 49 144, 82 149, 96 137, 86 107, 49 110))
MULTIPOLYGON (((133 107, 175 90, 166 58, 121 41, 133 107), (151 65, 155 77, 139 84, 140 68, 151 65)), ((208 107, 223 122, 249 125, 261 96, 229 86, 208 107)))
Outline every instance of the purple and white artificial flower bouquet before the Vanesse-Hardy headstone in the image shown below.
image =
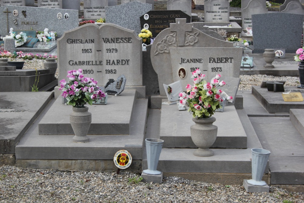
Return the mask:
POLYGON ((67 98, 67 104, 75 108, 84 108, 86 103, 92 105, 93 101, 99 101, 105 97, 105 93, 97 90, 97 81, 93 78, 84 77, 82 69, 67 72, 68 82, 60 80, 60 88, 63 93, 61 96, 67 98), (96 89, 96 90, 95 90, 96 89))

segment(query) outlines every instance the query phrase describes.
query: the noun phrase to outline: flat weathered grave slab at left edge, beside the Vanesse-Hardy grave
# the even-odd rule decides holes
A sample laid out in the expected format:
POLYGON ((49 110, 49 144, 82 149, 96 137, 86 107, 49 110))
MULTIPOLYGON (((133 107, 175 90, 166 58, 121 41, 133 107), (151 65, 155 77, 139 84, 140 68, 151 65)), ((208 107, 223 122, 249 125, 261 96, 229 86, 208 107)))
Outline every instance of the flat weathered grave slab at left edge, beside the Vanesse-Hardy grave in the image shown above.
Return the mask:
POLYGON ((15 145, 53 97, 53 92, 0 92, 0 154, 15 153, 15 145))

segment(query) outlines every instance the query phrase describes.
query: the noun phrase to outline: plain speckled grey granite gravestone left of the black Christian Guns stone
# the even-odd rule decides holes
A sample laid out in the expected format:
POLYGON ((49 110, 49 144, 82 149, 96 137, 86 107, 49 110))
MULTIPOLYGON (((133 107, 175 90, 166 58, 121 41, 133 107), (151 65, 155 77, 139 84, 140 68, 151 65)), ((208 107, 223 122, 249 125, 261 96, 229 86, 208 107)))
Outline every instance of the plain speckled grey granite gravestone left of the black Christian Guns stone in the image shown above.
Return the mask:
POLYGON ((139 34, 142 29, 140 27, 139 17, 150 10, 152 10, 151 4, 129 2, 117 6, 106 7, 105 19, 107 23, 113 23, 130 30, 135 30, 135 33, 139 34))

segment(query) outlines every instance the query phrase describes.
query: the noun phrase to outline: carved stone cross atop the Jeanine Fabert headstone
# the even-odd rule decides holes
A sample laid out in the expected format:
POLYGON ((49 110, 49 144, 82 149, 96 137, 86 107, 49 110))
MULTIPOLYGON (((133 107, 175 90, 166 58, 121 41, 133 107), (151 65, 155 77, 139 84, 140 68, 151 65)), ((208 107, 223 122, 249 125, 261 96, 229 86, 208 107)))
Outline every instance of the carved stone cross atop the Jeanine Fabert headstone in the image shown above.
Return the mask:
POLYGON ((185 18, 176 18, 175 23, 170 23, 170 31, 176 32, 178 46, 185 45, 185 32, 192 31, 192 23, 186 23, 185 18))

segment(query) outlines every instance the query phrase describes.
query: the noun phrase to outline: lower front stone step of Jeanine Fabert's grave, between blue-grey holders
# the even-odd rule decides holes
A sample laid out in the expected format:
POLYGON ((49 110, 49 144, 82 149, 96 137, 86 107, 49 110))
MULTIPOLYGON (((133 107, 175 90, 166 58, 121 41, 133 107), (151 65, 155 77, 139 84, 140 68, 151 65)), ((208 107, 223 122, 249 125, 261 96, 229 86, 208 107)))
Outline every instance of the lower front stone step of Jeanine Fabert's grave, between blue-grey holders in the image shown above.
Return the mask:
MULTIPOLYGON (((193 155, 195 149, 163 148, 157 170, 163 173, 251 173, 251 148, 212 150, 214 156, 199 157, 193 155)), ((143 170, 147 168, 144 159, 143 170)), ((268 166, 265 173, 268 173, 268 166)))

